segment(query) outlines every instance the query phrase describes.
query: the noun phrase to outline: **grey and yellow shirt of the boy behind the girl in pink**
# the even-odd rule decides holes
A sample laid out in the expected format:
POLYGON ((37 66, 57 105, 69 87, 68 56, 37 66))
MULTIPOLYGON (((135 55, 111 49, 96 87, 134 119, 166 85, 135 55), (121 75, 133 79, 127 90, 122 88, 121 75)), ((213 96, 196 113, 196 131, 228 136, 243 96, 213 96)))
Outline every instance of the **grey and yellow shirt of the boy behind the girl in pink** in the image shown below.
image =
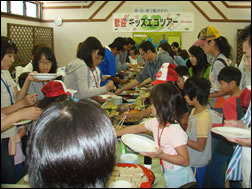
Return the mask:
POLYGON ((206 146, 203 152, 188 147, 191 167, 204 167, 211 159, 211 119, 208 109, 194 115, 195 109, 192 110, 186 133, 192 141, 197 138, 207 138, 206 146))

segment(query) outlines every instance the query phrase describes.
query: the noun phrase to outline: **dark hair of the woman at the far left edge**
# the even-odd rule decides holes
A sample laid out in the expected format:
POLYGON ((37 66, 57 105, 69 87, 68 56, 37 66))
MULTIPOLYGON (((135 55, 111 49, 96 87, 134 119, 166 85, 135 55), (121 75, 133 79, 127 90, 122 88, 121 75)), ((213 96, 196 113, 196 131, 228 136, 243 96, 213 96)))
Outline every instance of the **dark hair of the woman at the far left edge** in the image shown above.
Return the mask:
POLYGON ((17 53, 16 44, 8 37, 1 36, 1 60, 6 54, 17 53))

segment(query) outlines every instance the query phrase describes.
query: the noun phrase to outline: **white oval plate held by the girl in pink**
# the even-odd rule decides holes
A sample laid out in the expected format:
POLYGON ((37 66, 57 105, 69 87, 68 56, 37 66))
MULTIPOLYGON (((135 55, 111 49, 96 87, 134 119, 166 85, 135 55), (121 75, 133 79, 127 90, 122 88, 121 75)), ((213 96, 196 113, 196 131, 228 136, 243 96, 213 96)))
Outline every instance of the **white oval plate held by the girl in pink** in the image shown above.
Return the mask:
POLYGON ((136 134, 125 134, 121 137, 123 143, 135 152, 156 152, 158 145, 149 138, 136 134))

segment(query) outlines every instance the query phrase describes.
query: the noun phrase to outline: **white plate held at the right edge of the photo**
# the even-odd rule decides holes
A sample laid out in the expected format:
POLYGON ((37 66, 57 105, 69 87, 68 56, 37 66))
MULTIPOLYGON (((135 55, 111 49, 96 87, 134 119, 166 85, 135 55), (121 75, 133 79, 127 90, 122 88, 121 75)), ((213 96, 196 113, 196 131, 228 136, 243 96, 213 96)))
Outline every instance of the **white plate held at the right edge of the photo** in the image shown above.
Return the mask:
POLYGON ((251 138, 251 130, 236 127, 214 127, 214 133, 220 134, 227 138, 251 138))

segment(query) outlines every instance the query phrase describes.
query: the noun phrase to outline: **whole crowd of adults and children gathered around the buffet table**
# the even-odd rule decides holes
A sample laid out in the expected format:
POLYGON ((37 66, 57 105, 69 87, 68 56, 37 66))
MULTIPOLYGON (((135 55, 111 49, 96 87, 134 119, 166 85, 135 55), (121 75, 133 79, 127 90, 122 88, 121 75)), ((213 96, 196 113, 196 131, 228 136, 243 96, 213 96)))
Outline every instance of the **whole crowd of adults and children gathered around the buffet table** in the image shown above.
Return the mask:
POLYGON ((29 174, 32 187, 105 187, 116 163, 116 136, 151 131, 159 148, 166 187, 251 187, 251 138, 226 138, 218 126, 251 129, 251 25, 239 38, 243 59, 232 62, 232 47, 212 26, 203 28, 186 50, 163 39, 155 48, 132 38, 103 45, 96 37, 78 44, 65 75, 39 81, 36 73, 56 73, 51 48, 36 45, 29 69, 14 81, 9 69, 18 49, 1 37, 1 183, 29 174), (125 71, 143 67, 127 83, 125 71), (101 109, 102 94, 151 83, 151 105, 126 119, 154 118, 115 130, 101 109), (19 90, 20 89, 20 90, 19 90), (74 95, 67 89, 76 90, 74 95), (34 120, 17 126, 21 120, 34 120))

